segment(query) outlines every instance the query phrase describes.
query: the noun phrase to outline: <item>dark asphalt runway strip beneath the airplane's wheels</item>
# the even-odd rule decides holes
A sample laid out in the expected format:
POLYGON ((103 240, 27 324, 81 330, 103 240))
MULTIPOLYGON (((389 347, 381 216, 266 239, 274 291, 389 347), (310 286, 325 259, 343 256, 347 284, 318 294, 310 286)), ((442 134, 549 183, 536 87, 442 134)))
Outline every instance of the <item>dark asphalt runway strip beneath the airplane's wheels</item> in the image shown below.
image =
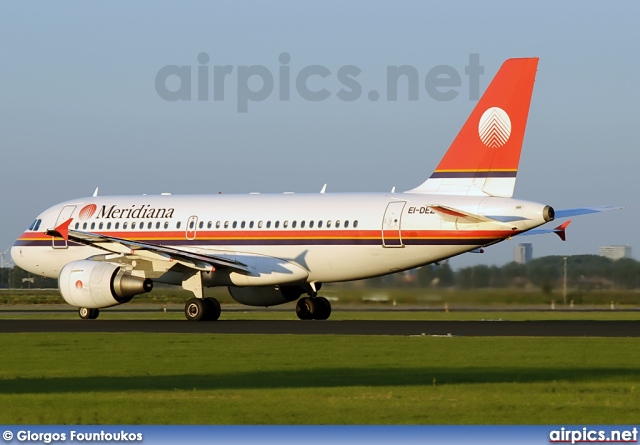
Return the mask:
POLYGON ((640 337, 640 321, 0 320, 0 333, 18 332, 640 337))

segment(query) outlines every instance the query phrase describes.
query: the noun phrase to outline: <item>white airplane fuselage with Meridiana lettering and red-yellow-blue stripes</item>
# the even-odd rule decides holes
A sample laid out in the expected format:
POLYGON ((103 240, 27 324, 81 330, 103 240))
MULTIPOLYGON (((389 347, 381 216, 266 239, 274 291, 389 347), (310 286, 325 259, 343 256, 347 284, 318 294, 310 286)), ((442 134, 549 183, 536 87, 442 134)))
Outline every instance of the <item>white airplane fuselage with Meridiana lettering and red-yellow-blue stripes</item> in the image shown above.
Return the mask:
MULTIPOLYGON (((347 281, 494 244, 544 224, 544 208, 509 198, 420 193, 99 196, 44 211, 37 227, 18 239, 11 255, 21 268, 57 278, 71 261, 108 253, 43 234, 73 218, 69 229, 75 231, 213 252, 250 266, 261 256, 277 258, 299 266, 306 272, 303 281, 309 283, 347 281), (430 209, 434 205, 491 220, 443 218, 430 209)), ((285 281, 287 273, 281 274, 285 281)), ((154 277, 152 271, 147 275, 172 284, 181 279, 170 274, 154 277)), ((240 286, 278 284, 273 282, 278 281, 277 274, 271 282, 263 275, 247 278, 233 272, 230 280, 240 286)))

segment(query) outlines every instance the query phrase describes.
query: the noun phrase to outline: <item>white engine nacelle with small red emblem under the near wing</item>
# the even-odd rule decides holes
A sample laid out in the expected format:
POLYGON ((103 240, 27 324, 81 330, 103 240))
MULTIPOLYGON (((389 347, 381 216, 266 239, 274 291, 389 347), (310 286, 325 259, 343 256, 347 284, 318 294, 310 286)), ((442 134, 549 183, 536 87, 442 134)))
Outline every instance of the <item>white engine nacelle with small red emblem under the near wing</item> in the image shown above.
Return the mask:
POLYGON ((134 277, 116 264, 80 260, 62 268, 58 287, 70 305, 97 309, 127 303, 135 295, 150 292, 153 282, 134 277))

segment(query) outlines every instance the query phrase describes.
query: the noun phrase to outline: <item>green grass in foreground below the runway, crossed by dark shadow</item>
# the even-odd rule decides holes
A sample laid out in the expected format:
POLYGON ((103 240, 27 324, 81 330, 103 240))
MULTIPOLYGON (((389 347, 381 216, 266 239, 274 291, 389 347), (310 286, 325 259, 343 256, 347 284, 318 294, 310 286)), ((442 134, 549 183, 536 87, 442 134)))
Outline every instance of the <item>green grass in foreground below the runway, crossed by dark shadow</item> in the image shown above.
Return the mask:
POLYGON ((640 339, 1 339, 5 424, 631 424, 640 406, 640 339))

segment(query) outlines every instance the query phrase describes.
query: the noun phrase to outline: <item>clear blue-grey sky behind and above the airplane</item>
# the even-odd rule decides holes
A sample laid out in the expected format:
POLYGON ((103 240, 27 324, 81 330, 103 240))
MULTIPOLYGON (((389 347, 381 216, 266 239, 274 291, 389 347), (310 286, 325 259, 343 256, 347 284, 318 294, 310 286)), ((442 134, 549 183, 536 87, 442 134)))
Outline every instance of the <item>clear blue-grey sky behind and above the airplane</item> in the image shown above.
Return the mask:
MULTIPOLYGON (((515 196, 556 208, 627 208, 578 217, 568 241, 526 237, 452 260, 503 264, 517 242, 534 256, 640 251, 633 178, 640 165, 637 2, 2 2, 0 251, 45 208, 101 194, 407 190, 422 183, 475 105, 464 74, 478 54, 480 91, 510 57, 538 56, 515 196), (230 65, 225 99, 197 100, 198 54, 230 65), (279 100, 281 53, 290 100, 279 100), (189 66, 192 100, 167 101, 155 79, 189 66), (239 67, 261 65, 274 90, 238 112, 239 67), (331 93, 304 100, 309 80, 331 93), (362 95, 340 100, 353 65, 362 95), (419 99, 386 100, 388 66, 410 65, 419 99), (432 68, 461 75, 458 95, 430 97, 432 68), (368 92, 380 92, 371 101, 368 92)), ((168 82, 176 88, 177 80, 168 82)), ((249 84, 258 90, 256 78, 249 84)), ((406 88, 406 85, 404 86, 406 88)))

